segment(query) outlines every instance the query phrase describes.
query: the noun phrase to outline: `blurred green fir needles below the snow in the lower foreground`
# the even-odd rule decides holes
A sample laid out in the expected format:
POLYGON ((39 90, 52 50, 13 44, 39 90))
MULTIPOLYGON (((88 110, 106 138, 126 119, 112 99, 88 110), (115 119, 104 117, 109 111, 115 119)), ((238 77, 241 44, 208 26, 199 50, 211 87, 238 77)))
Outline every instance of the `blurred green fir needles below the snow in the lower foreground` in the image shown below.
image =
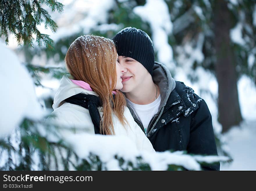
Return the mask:
MULTIPOLYGON (((7 145, 11 145, 10 138, 7 138, 5 141, 0 142, 0 152, 2 152, 4 148, 8 148, 8 159, 5 165, 0 167, 1 170, 33 170, 33 153, 38 155, 38 168, 40 170, 51 170, 51 168, 53 167, 51 166, 51 162, 53 160, 56 163, 55 167, 57 170, 59 170, 58 163, 63 164, 65 170, 69 170, 70 165, 72 165, 76 170, 108 170, 106 167, 106 162, 102 162, 100 160, 100 157, 95 153, 90 152, 86 158, 79 158, 77 154, 72 151, 72 148, 66 146, 64 141, 49 142, 45 137, 42 137, 42 135, 40 135, 40 133, 38 132, 37 127, 42 126, 43 121, 44 120, 33 121, 31 119, 25 119, 22 122, 22 125, 19 127, 21 137, 17 136, 21 140, 19 143, 18 151, 15 151, 13 147, 9 147, 7 145), (25 152, 23 152, 23 150, 25 152), (14 155, 19 156, 19 164, 16 164, 15 161, 13 161, 14 155), (60 160, 58 160, 57 156, 60 156, 60 160), (74 162, 71 160, 72 156, 74 156, 74 160, 77 164, 74 164, 74 162)), ((51 126, 51 129, 49 130, 54 131, 53 128, 55 126, 46 123, 45 126, 46 128, 48 128, 48 126, 51 126)), ((181 154, 187 153, 184 152, 181 154)), ((193 155, 191 156, 193 157, 193 155)), ((113 158, 119 161, 119 166, 122 170, 152 170, 150 165, 144 161, 142 156, 136 157, 134 163, 129 160, 124 160, 124 158, 122 156, 119 156, 118 154, 113 156, 113 158)), ((223 159, 223 162, 224 160, 225 159, 223 159)), ((206 165, 206 163, 202 161, 202 158, 199 158, 197 160, 197 162, 201 165, 206 165)), ((169 164, 168 170, 184 170, 184 167, 169 164)))

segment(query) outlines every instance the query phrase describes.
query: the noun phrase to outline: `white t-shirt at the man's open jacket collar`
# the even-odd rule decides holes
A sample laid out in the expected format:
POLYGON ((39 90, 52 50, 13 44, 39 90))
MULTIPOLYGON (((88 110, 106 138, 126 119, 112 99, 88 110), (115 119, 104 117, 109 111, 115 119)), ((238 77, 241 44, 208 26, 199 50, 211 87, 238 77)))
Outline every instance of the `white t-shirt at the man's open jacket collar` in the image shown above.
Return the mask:
POLYGON ((158 112, 160 102, 161 102, 161 95, 159 95, 155 101, 147 105, 138 105, 131 102, 129 99, 126 99, 126 100, 127 100, 127 103, 134 110, 136 117, 142 122, 144 131, 146 133, 150 120, 158 112))

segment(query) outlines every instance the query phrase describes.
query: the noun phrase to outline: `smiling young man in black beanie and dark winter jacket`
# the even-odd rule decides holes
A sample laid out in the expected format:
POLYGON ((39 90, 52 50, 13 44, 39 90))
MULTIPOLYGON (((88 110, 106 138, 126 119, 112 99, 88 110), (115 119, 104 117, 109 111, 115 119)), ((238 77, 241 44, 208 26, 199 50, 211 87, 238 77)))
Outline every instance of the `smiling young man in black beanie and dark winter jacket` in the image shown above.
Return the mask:
MULTIPOLYGON (((175 81, 164 65, 154 61, 147 33, 127 27, 113 41, 118 61, 125 68, 121 91, 154 149, 218 155, 207 104, 191 88, 175 81)), ((219 170, 220 163, 203 169, 219 170)))

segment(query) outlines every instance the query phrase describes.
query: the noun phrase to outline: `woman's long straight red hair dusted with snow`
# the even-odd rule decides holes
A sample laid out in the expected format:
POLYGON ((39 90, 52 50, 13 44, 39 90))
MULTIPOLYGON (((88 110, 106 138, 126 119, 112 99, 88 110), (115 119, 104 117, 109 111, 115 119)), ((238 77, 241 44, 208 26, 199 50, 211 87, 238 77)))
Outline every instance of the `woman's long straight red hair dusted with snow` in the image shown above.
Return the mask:
POLYGON ((65 56, 67 70, 73 78, 88 83, 102 100, 100 133, 104 135, 115 134, 112 112, 123 126, 128 124, 123 115, 126 106, 124 95, 118 90, 115 100, 112 95, 117 82, 116 57, 117 52, 112 40, 93 35, 77 38, 65 56))

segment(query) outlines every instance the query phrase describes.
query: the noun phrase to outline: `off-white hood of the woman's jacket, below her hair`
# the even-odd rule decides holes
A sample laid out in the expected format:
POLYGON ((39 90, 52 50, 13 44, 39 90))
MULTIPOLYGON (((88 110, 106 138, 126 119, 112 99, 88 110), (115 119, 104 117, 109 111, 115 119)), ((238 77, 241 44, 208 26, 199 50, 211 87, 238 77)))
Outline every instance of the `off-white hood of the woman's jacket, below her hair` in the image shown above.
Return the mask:
POLYGON ((60 82, 60 86, 54 96, 52 108, 55 110, 56 108, 60 107, 64 102, 65 99, 76 95, 76 94, 91 94, 99 96, 97 93, 89 90, 85 90, 81 88, 79 85, 74 84, 70 79, 72 76, 70 74, 65 74, 60 82))

